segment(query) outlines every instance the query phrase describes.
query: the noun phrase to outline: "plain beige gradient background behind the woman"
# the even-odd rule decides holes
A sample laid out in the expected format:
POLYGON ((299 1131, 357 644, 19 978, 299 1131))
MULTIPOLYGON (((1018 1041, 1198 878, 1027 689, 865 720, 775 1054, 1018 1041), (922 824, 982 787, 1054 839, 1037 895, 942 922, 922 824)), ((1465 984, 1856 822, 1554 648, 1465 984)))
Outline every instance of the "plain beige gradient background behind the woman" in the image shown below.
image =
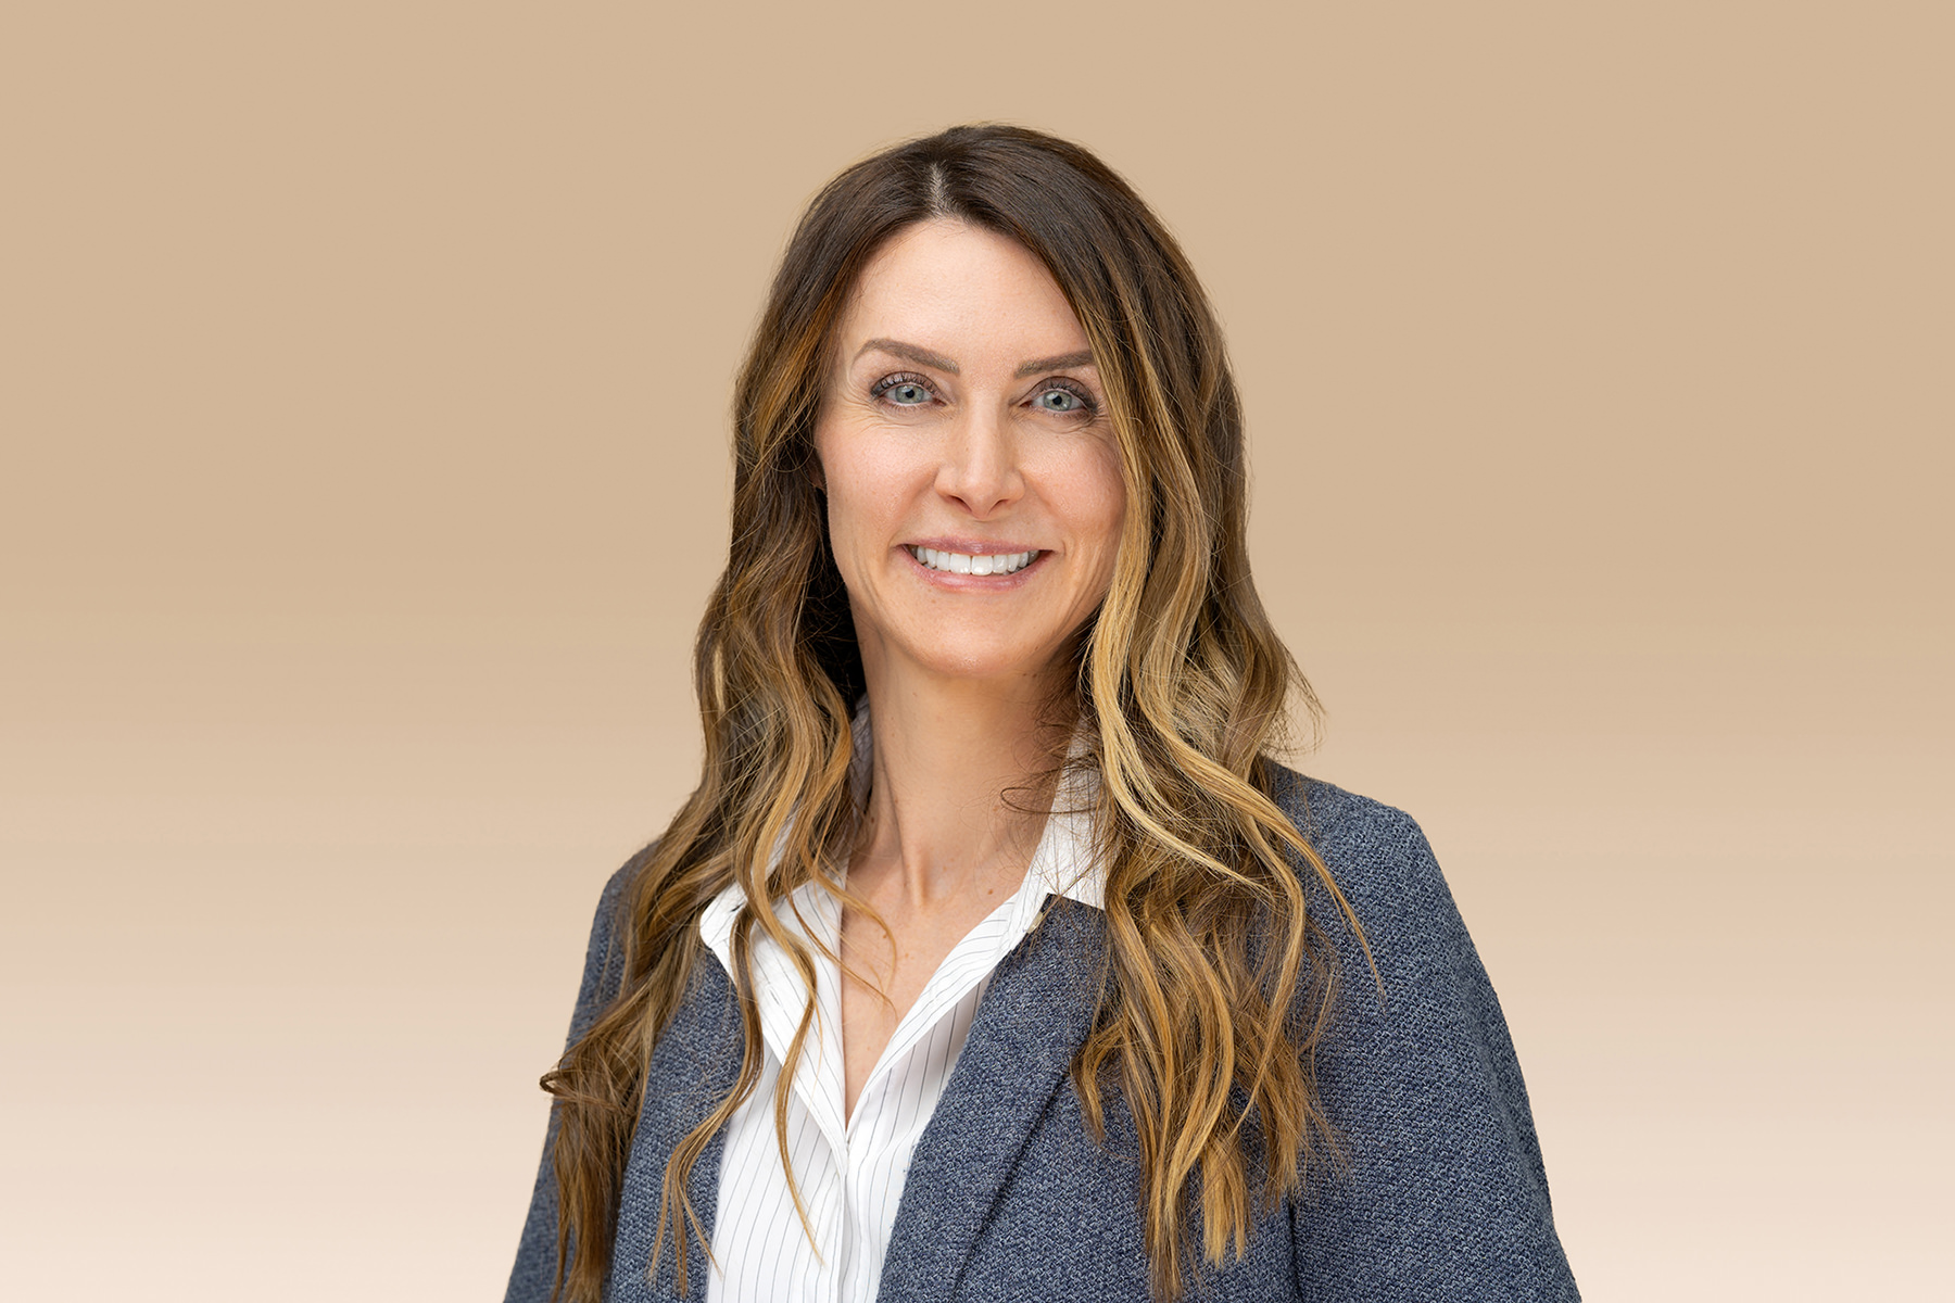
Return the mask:
POLYGON ((0 1289, 500 1295, 770 266, 997 117, 1220 305, 1586 1295, 1947 1297, 1945 14, 8 4, 0 1289))

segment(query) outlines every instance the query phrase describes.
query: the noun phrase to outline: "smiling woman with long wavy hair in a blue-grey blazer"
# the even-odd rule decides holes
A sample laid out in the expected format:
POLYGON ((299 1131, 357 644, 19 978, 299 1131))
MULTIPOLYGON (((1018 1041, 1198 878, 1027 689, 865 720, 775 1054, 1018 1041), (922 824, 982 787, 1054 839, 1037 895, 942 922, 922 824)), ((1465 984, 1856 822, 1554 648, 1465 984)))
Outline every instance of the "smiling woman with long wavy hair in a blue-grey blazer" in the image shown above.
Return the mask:
POLYGON ((809 207, 700 787, 598 904, 510 1299, 1574 1297, 1417 826, 1271 760, 1236 389, 1085 150, 809 207))

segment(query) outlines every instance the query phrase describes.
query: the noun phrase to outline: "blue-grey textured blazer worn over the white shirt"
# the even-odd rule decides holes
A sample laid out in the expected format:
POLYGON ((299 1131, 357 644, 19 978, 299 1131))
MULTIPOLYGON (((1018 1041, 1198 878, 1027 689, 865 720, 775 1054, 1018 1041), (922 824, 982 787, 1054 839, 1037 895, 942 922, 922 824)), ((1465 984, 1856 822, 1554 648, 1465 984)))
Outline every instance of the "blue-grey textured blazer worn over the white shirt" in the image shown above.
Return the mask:
MULTIPOLYGON (((1507 1026, 1445 877, 1404 813, 1282 772, 1279 805, 1324 856, 1370 940, 1380 996, 1327 895, 1310 908, 1337 947, 1343 992, 1318 1051, 1318 1086, 1345 1162, 1286 1199, 1247 1252, 1204 1268, 1191 1299, 1273 1303, 1464 1303, 1576 1299, 1554 1235, 1527 1086, 1507 1026)), ((571 1035, 616 988, 612 926, 622 885, 598 903, 571 1035)), ((993 973, 944 1096, 917 1143, 882 1272, 901 1303, 1148 1299, 1132 1117, 1108 1092, 1095 1143, 1069 1067, 1093 1018, 1105 916, 1052 899, 1046 920, 993 973)), ((626 1166, 608 1297, 678 1299, 673 1237, 651 1258, 673 1147, 733 1088, 741 1028, 712 955, 645 1069, 645 1108, 626 1166)), ((555 1114, 516 1252, 508 1303, 545 1303, 557 1264, 555 1114)), ((692 1168, 708 1237, 719 1143, 692 1168)), ((802 1229, 782 1227, 782 1235, 802 1229)), ((686 1254, 690 1297, 706 1258, 686 1254)))

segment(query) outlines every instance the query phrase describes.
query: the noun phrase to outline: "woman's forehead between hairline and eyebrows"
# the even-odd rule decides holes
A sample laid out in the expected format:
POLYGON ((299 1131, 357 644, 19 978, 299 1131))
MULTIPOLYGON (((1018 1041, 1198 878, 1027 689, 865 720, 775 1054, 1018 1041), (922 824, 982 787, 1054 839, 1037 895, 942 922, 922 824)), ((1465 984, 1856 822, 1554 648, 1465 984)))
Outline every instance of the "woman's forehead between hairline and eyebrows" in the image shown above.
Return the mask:
POLYGON ((882 336, 960 365, 1087 348, 1046 266, 1017 240, 962 221, 919 223, 884 244, 848 297, 839 336, 845 359, 882 336))

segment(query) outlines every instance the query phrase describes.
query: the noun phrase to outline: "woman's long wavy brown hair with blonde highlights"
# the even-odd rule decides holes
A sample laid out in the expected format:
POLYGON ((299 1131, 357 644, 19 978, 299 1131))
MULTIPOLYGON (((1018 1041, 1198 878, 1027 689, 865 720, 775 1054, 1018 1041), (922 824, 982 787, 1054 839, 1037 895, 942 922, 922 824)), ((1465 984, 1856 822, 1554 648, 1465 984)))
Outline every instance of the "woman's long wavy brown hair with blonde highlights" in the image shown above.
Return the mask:
MULTIPOLYGON (((1153 1295, 1171 1303, 1200 1262, 1239 1256, 1251 1225, 1333 1155, 1314 1051, 1339 975, 1304 875, 1349 906, 1273 799, 1269 756, 1292 705, 1318 705, 1249 580, 1222 332, 1173 236, 1099 158, 1019 127, 954 127, 854 164, 815 197, 739 375, 731 543, 694 652, 700 785, 624 891, 608 1006, 543 1076, 559 1110, 555 1297, 569 1303, 600 1297, 645 1063, 704 951, 706 904, 729 883, 755 904, 733 936, 745 1059, 665 1164, 659 1242, 674 1237, 680 1291, 688 1242, 710 1252, 686 1178, 760 1076, 755 928, 813 990, 815 955, 772 906, 809 881, 839 891, 821 865, 856 828, 850 707, 864 692, 809 473, 815 418, 862 268, 936 219, 1005 234, 1046 266, 1091 342, 1118 440, 1128 508, 1065 703, 1099 776, 1107 873, 1107 967, 1071 1080, 1097 1139, 1108 1092, 1132 1115, 1153 1295)), ((813 1000, 772 1100, 784 1164, 811 1020, 813 1000)))

